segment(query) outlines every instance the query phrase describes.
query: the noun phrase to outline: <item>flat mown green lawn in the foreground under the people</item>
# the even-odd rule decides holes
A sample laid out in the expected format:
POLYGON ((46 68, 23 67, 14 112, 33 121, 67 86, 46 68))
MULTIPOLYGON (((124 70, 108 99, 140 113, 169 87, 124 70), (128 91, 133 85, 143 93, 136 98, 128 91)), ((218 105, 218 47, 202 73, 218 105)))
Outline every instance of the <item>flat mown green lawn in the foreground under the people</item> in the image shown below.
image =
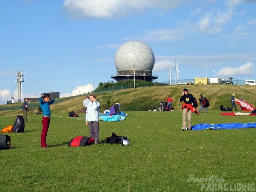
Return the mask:
MULTIPOLYGON (((40 148, 41 115, 28 116, 24 133, 8 133, 10 150, 0 151, 0 191, 200 191, 187 182, 218 176, 224 183, 255 183, 256 129, 181 131, 182 112, 126 112, 121 122, 100 121, 100 141, 112 132, 130 145, 69 147, 76 136, 89 136, 80 118, 52 116, 50 148, 40 148)), ((248 123, 252 116, 193 114, 192 124, 248 123)), ((55 114, 67 117, 67 114, 55 114)), ((82 117, 84 114, 79 114, 82 117)), ((0 127, 15 116, 0 117, 0 127)))

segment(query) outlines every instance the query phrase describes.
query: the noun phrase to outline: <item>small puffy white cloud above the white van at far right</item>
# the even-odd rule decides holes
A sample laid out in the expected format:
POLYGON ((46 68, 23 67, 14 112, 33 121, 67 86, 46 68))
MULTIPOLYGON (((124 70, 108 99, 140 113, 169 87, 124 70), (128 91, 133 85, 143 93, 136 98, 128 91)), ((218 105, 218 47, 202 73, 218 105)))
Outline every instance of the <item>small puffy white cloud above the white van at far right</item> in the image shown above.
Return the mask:
POLYGON ((245 75, 254 68, 254 64, 248 61, 239 67, 224 67, 217 72, 217 76, 245 75))

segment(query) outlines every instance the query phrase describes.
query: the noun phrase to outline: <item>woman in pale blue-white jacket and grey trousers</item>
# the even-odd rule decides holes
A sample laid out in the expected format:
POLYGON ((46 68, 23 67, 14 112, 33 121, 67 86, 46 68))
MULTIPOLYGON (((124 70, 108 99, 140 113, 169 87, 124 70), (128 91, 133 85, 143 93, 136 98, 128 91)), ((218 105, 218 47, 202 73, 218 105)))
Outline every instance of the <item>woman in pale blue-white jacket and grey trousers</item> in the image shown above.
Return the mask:
POLYGON ((99 143, 99 112, 100 103, 96 100, 95 94, 90 95, 90 102, 87 105, 87 110, 85 113, 86 125, 89 125, 90 137, 94 138, 94 144, 99 143))

